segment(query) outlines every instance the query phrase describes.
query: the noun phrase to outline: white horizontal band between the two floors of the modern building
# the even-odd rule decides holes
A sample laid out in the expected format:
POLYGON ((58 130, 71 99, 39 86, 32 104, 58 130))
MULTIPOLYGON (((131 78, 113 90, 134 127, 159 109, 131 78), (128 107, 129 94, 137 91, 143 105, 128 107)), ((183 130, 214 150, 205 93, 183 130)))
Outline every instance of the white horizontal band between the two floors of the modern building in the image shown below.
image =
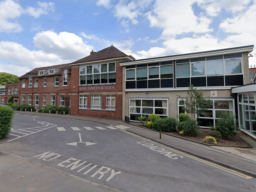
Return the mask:
MULTIPOLYGON (((231 87, 196 87, 197 90, 224 90, 231 89, 231 87)), ((188 91, 189 89, 184 88, 161 88, 161 89, 126 89, 125 92, 144 92, 144 91, 188 91)))

